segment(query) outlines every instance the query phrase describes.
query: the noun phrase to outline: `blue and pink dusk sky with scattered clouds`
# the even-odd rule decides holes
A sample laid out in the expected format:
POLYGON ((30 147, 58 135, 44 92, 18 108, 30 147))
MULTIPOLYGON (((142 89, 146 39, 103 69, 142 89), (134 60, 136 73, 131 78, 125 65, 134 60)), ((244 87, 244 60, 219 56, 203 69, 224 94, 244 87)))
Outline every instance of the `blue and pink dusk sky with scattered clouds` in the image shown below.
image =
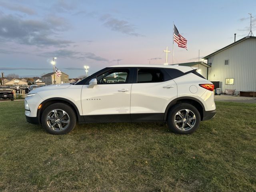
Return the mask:
MULTIPOLYGON (((256 1, 0 0, 0 72, 41 76, 56 66, 70 78, 116 64, 198 61, 248 35, 256 1), (188 40, 174 43, 173 22, 188 40), (119 61, 117 61, 119 60, 119 61)), ((256 19, 252 32, 256 35, 256 19)))

